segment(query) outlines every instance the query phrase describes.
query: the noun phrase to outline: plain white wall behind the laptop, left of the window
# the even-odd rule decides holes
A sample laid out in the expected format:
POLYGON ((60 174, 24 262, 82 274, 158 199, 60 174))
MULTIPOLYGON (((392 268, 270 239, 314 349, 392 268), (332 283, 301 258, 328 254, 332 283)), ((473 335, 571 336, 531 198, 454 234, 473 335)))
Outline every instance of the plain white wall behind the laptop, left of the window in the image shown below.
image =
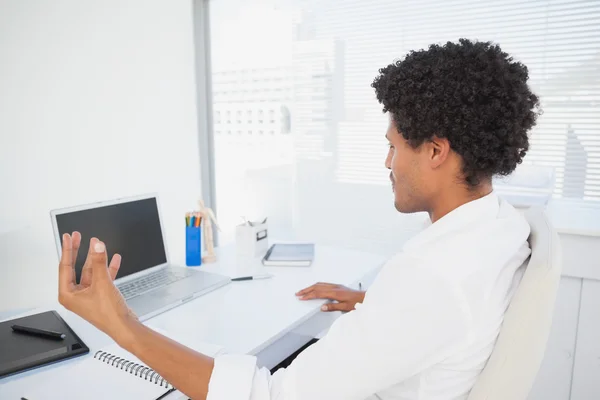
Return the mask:
POLYGON ((183 258, 192 23, 190 1, 0 0, 0 310, 55 298, 53 208, 159 192, 183 258))

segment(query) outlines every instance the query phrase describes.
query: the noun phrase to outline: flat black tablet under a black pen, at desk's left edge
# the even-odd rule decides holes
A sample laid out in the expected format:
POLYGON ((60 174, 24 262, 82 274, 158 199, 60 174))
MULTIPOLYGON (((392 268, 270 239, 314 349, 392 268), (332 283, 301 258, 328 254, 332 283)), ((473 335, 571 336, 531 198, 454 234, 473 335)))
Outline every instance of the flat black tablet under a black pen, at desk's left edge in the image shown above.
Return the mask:
POLYGON ((0 322, 0 378, 86 354, 90 349, 56 311, 0 322), (63 340, 13 332, 12 325, 62 332, 63 340))

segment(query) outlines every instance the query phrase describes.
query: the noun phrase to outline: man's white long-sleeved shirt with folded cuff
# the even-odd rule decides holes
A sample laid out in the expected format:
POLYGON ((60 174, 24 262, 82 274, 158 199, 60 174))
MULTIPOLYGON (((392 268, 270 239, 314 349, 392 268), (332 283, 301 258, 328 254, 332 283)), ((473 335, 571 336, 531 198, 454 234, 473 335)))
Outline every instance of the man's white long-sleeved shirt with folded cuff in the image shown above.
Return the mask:
POLYGON ((496 194, 420 232, 356 310, 272 376, 256 358, 215 360, 209 400, 466 399, 530 254, 529 225, 496 194))

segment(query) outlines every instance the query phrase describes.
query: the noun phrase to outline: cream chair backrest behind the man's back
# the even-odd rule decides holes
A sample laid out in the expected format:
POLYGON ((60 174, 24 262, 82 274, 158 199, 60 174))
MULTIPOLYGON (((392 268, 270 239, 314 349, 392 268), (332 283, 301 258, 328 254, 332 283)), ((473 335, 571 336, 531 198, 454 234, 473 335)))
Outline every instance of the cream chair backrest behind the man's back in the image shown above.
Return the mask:
POLYGON ((528 209, 525 217, 531 226, 531 256, 469 400, 526 400, 544 358, 562 253, 558 234, 541 207, 528 209))

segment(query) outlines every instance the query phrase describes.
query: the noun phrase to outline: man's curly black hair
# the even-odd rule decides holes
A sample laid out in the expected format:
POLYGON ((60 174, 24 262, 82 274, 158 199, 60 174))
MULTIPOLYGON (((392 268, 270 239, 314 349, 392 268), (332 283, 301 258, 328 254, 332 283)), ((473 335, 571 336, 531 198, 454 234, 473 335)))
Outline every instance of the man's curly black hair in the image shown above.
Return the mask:
POLYGON ((498 45, 460 39, 411 51, 381 68, 371 86, 411 146, 447 138, 474 187, 513 172, 529 149, 540 111, 528 78, 498 45))

